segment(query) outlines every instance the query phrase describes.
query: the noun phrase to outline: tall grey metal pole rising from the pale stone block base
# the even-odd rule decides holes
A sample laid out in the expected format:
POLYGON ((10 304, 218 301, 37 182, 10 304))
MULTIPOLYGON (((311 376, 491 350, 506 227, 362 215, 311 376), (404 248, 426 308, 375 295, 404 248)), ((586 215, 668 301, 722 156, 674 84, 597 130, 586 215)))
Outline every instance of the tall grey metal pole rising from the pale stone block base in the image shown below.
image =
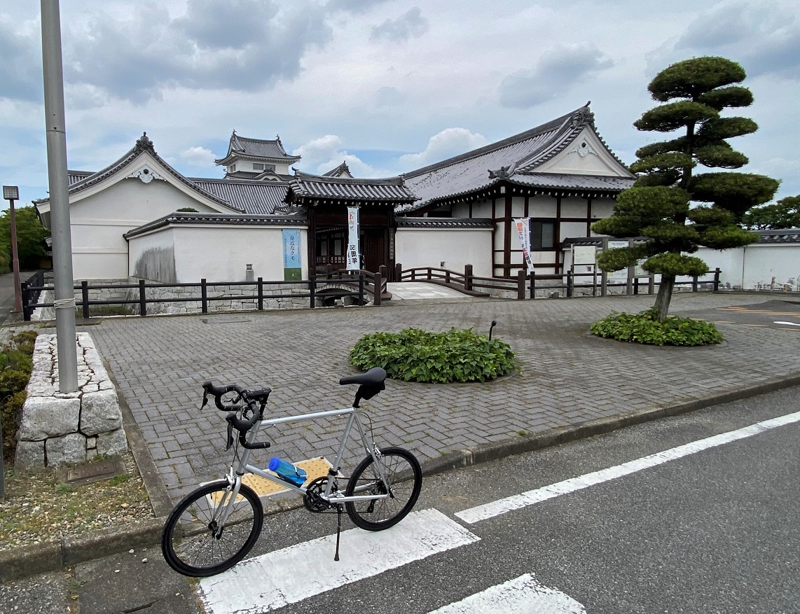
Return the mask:
POLYGON ((58 0, 42 0, 42 65, 45 80, 47 173, 50 179, 50 233, 53 235, 58 389, 62 393, 74 393, 78 390, 78 350, 75 341, 75 293, 69 184, 66 177, 64 73, 58 0))

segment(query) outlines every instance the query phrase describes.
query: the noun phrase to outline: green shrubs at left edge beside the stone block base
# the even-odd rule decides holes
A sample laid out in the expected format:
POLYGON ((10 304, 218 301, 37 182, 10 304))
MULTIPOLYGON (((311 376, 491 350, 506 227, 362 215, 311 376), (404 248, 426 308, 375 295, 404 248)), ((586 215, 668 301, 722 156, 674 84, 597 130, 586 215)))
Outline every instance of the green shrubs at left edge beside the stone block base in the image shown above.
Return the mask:
POLYGON ((35 330, 26 330, 10 337, 0 347, 0 421, 2 421, 2 454, 11 460, 17 446, 17 428, 25 403, 25 387, 34 369, 35 330))

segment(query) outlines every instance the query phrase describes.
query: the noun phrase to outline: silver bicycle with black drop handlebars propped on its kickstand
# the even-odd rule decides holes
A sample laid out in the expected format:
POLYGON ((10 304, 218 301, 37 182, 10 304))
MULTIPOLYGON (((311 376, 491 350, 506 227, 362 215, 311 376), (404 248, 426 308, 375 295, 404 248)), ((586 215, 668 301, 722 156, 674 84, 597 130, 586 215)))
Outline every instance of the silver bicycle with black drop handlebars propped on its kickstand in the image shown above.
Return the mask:
POLYGON ((234 460, 224 480, 190 492, 167 518, 161 545, 170 567, 185 576, 214 576, 233 567, 250 552, 261 532, 264 510, 258 494, 242 484, 242 476, 246 473, 302 494, 310 512, 337 512, 335 560, 339 556, 342 508, 346 509, 356 526, 367 531, 381 531, 402 520, 419 497, 422 469, 414 454, 406 449, 378 448, 364 428, 359 411, 360 401, 383 390, 385 380, 386 371, 379 367, 360 375, 342 377, 339 384, 358 384, 352 407, 268 419, 264 418, 264 408, 271 389, 215 386, 206 381, 202 385, 202 407, 207 405, 209 395, 213 395, 217 408, 228 412, 226 449, 234 449, 234 460), (302 482, 301 476, 296 480, 302 482, 298 485, 249 464, 252 450, 270 447, 267 441, 256 441, 258 430, 263 426, 335 416, 346 417, 346 425, 336 458, 326 476, 307 482, 302 482), (354 427, 366 457, 358 463, 352 475, 345 478, 340 468, 354 427), (339 489, 339 480, 347 480, 343 492, 339 489))

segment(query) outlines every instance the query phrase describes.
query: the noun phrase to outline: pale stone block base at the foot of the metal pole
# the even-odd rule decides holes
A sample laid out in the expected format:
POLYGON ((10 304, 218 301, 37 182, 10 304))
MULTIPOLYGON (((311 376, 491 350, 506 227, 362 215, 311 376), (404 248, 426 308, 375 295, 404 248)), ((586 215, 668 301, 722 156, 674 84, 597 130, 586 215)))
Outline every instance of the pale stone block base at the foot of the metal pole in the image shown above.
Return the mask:
POLYGON ((58 391, 55 335, 40 334, 22 407, 14 466, 31 469, 90 461, 128 449, 114 384, 89 333, 78 333, 78 391, 58 391))

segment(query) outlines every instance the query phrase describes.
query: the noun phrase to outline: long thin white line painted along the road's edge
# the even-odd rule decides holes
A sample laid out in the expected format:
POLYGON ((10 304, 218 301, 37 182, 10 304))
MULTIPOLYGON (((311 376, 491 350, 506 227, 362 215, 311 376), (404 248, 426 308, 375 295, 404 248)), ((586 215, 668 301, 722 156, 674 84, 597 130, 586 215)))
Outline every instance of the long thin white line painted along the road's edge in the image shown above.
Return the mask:
POLYGON ((562 480, 561 482, 550 484, 549 486, 509 496, 505 499, 478 505, 474 508, 465 509, 462 512, 456 512, 455 515, 466 523, 472 524, 479 520, 486 520, 487 518, 499 516, 500 514, 511 512, 514 509, 525 508, 528 505, 541 503, 542 501, 552 499, 559 495, 566 495, 569 492, 575 492, 582 488, 594 486, 594 484, 602 484, 602 482, 615 480, 618 477, 642 471, 642 469, 655 467, 667 461, 674 461, 678 458, 689 456, 690 454, 702 452, 702 450, 714 448, 718 445, 729 444, 731 441, 752 437, 753 435, 758 435, 758 433, 763 433, 767 430, 776 429, 779 426, 789 425, 798 421, 800 421, 800 412, 789 413, 786 414, 786 416, 758 422, 754 425, 746 426, 743 429, 720 433, 719 435, 714 435, 714 437, 706 437, 706 439, 692 441, 686 445, 679 445, 677 448, 650 454, 648 457, 638 458, 635 461, 628 461, 614 467, 586 473, 582 476, 572 477, 569 480, 562 480))

